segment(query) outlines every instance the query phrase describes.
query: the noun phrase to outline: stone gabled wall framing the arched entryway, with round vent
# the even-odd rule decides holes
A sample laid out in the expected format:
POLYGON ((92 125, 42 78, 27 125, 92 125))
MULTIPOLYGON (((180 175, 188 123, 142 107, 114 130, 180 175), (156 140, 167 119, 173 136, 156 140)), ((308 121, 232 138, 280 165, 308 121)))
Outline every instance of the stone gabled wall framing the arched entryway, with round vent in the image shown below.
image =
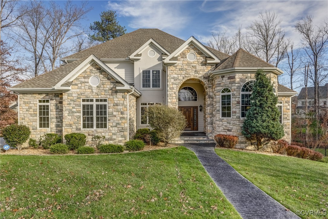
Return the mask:
POLYGON ((208 74, 213 71, 214 65, 206 64, 206 56, 194 45, 188 46, 177 56, 177 63, 168 66, 168 105, 178 107, 178 91, 182 83, 188 79, 199 81, 205 88, 205 125, 204 131, 208 136, 213 132, 213 79, 208 74), (187 54, 194 52, 195 61, 188 61, 187 54))

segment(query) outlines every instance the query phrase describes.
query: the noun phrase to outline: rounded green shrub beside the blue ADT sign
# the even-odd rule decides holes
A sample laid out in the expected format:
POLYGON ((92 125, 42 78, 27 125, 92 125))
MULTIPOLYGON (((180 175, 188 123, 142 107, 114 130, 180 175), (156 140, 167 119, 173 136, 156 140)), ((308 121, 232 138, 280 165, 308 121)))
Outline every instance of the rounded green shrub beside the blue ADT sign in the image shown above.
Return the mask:
POLYGON ((30 128, 26 125, 9 125, 2 130, 4 140, 11 147, 22 148, 22 144, 30 137, 30 128))

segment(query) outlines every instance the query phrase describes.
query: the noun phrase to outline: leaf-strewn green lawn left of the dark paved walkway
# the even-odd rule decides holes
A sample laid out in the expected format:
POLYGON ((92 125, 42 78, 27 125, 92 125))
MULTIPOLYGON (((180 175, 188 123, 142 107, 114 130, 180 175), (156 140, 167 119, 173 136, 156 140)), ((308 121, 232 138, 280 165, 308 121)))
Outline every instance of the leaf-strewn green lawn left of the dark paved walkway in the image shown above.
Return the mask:
POLYGON ((1 217, 240 218, 184 147, 0 159, 1 217))

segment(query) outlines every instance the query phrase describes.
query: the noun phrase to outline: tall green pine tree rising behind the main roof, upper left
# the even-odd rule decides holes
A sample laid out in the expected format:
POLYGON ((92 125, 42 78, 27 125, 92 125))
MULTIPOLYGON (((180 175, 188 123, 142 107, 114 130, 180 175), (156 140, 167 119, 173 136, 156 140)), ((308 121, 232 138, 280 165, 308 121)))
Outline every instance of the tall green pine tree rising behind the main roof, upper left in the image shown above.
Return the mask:
POLYGON ((94 21, 93 24, 90 25, 90 29, 94 33, 89 35, 90 39, 103 43, 126 33, 125 27, 118 24, 115 13, 116 12, 112 10, 101 12, 101 21, 94 21))

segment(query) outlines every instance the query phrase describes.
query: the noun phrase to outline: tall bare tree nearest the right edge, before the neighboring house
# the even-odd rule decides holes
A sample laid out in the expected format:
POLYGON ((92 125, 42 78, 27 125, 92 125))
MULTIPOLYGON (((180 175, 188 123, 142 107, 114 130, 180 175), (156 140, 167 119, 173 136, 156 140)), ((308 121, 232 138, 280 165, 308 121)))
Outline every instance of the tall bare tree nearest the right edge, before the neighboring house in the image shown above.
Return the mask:
POLYGON ((307 15, 297 21, 295 29, 301 34, 301 42, 307 61, 310 64, 310 78, 314 85, 315 114, 319 118, 319 84, 328 72, 325 70, 327 64, 327 44, 328 44, 328 22, 327 19, 319 26, 313 24, 313 17, 307 15))

